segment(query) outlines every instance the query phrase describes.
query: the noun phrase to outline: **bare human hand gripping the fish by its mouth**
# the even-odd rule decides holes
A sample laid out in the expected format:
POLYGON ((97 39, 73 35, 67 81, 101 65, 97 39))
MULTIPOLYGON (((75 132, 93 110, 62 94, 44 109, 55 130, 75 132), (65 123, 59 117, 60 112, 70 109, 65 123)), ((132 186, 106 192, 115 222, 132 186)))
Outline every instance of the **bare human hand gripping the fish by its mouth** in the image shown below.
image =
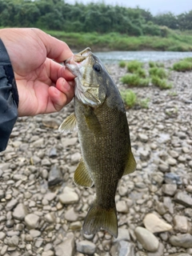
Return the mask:
POLYGON ((73 53, 42 30, 2 29, 18 87, 18 116, 46 114, 62 109, 74 97, 74 75, 58 62, 73 53))

